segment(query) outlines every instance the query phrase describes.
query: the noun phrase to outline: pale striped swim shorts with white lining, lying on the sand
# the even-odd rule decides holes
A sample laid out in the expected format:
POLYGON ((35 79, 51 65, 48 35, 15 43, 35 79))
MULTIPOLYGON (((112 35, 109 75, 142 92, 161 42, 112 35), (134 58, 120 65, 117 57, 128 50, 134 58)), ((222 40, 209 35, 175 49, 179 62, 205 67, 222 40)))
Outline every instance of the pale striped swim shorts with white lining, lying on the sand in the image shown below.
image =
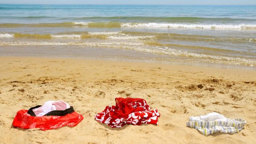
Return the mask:
POLYGON ((246 120, 230 120, 215 112, 208 113, 205 116, 192 116, 190 121, 187 122, 187 126, 197 129, 204 136, 217 133, 218 131, 222 133, 238 133, 244 128, 245 124, 246 120))

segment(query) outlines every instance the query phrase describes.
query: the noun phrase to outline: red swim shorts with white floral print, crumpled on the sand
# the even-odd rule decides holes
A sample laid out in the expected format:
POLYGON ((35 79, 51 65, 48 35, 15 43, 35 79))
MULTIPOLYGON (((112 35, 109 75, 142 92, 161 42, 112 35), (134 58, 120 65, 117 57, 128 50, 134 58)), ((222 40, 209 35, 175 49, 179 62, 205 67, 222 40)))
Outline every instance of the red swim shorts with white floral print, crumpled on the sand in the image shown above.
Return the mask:
POLYGON ((115 102, 115 106, 107 106, 103 112, 98 113, 95 120, 112 128, 121 128, 125 124, 158 124, 158 117, 160 117, 158 110, 150 110, 144 99, 119 97, 115 102))

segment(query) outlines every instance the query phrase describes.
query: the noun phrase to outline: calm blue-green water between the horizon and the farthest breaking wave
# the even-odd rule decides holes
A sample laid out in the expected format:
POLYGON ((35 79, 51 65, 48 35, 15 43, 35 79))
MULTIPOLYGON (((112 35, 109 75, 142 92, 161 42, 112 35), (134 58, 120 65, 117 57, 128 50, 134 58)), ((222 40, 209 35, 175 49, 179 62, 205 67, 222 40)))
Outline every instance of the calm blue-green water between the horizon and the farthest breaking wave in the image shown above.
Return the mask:
POLYGON ((256 5, 0 5, 0 11, 1 23, 81 20, 256 24, 256 5))

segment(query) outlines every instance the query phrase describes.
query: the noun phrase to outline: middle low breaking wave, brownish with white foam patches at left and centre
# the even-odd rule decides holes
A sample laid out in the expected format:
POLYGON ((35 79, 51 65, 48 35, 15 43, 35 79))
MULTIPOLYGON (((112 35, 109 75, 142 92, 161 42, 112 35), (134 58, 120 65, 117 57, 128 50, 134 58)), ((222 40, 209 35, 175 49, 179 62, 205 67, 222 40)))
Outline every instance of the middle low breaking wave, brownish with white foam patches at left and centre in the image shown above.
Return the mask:
POLYGON ((140 40, 184 40, 204 42, 231 42, 231 43, 254 43, 255 37, 216 37, 207 35, 176 34, 160 32, 138 32, 138 31, 114 31, 114 32, 63 32, 59 34, 22 34, 22 33, 0 33, 0 38, 27 38, 27 39, 140 39, 140 40))

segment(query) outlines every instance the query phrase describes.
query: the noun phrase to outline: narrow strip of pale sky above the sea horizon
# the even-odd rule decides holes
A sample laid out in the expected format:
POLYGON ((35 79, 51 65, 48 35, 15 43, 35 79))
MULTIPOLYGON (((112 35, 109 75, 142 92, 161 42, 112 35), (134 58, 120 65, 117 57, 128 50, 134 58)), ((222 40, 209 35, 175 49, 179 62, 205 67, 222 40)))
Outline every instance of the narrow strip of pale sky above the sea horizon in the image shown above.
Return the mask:
POLYGON ((0 0, 1 4, 256 5, 256 0, 0 0))

